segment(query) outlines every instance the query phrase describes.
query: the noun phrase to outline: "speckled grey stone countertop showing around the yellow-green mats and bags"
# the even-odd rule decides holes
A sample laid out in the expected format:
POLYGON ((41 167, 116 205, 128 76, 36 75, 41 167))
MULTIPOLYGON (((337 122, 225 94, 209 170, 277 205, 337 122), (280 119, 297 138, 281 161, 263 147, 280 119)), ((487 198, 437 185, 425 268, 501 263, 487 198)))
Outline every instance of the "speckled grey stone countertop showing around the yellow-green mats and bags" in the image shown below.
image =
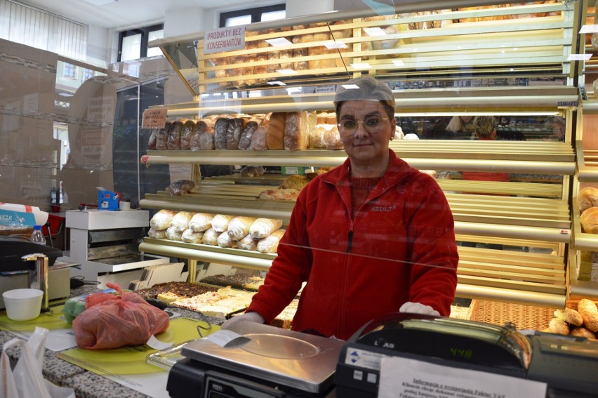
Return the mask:
MULTIPOLYGON (((84 294, 94 293, 98 291, 95 286, 81 286, 80 288, 72 289, 71 296, 78 297, 84 294)), ((222 319, 213 317, 203 317, 201 314, 177 308, 176 312, 180 313, 182 317, 191 319, 207 320, 211 324, 222 324, 222 319)), ((8 331, 0 331, 0 346, 4 345, 6 341, 11 340, 15 336, 8 331)), ((8 357, 11 358, 13 365, 16 363, 20 349, 18 347, 11 347, 8 351, 8 357)), ((127 397, 127 398, 146 398, 145 394, 132 390, 124 385, 120 385, 112 380, 99 376, 96 373, 86 371, 56 357, 59 352, 48 350, 46 348, 44 353, 44 366, 42 372, 44 377, 52 383, 62 385, 64 387, 71 387, 75 390, 78 398, 113 398, 113 397, 127 397)))

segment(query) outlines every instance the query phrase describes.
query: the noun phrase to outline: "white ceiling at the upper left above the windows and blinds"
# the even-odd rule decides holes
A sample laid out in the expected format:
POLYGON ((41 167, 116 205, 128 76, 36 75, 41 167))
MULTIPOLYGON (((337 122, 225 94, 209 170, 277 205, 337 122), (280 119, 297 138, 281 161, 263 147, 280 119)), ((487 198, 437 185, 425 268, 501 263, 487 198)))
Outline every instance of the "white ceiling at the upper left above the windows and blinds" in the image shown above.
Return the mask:
POLYGON ((21 0, 21 2, 85 25, 107 29, 142 26, 146 22, 162 22, 167 11, 184 8, 217 7, 234 10, 243 5, 251 8, 260 3, 272 4, 272 1, 259 0, 118 0, 102 6, 95 6, 86 0, 21 0))

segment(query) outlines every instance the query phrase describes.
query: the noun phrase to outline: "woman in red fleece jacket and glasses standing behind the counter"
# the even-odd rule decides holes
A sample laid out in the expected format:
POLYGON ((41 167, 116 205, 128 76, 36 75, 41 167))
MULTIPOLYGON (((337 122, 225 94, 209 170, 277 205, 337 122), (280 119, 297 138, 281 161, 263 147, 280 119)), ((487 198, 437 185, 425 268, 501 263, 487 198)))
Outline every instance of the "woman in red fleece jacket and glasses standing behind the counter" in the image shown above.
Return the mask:
POLYGON ((390 312, 451 312, 453 215, 434 178, 389 150, 392 91, 359 77, 338 89, 334 103, 348 158, 303 188, 263 286, 224 329, 239 321, 270 324, 303 282, 297 331, 345 340, 390 312))

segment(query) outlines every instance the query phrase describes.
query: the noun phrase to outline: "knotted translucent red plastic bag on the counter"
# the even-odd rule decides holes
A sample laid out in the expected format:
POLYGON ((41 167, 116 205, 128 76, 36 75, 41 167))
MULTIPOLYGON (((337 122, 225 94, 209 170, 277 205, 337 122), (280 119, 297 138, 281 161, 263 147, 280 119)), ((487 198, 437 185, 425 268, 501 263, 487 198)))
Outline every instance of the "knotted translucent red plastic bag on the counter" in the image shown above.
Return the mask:
POLYGON ((168 329, 166 312, 148 304, 137 293, 123 293, 117 284, 106 284, 119 292, 87 296, 86 310, 73 321, 77 347, 104 350, 124 345, 142 345, 152 335, 168 329))

